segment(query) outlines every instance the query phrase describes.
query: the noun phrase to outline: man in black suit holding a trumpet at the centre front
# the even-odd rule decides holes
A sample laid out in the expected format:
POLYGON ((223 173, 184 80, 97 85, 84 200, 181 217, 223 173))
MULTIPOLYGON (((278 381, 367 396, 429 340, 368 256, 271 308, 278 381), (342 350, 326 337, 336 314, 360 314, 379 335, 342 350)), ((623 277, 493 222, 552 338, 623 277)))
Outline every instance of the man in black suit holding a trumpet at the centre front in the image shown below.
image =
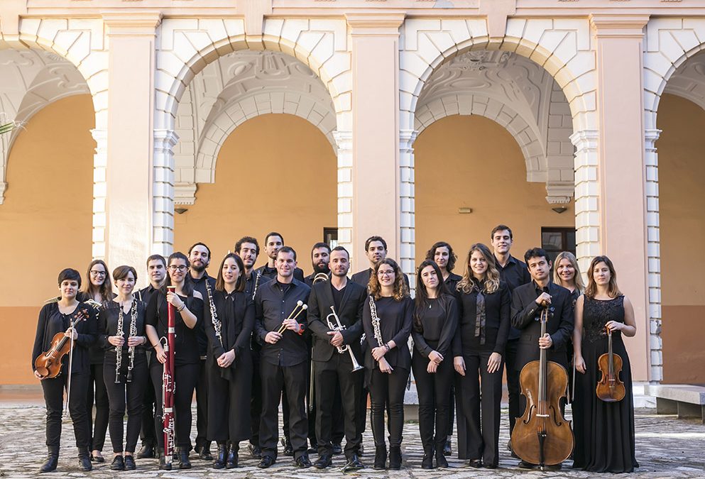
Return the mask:
MULTIPOLYGON (((350 353, 339 353, 337 348, 347 346, 357 360, 361 360, 360 336, 362 335, 362 309, 367 298, 367 289, 351 282, 347 278, 350 268, 349 253, 342 246, 333 248, 330 254, 329 281, 313 285, 309 298, 309 329, 314 334, 313 364, 316 384, 316 436, 318 439, 317 468, 327 468, 332 464, 333 445, 332 419, 334 418, 334 397, 336 387, 340 389, 342 409, 344 411, 345 456, 344 471, 361 469, 357 453, 362 439, 356 423, 356 408, 361 389, 360 371, 353 372, 350 353), (340 323, 345 326, 341 331, 329 327, 327 316, 334 308, 340 323)), ((330 316, 335 327, 337 321, 330 316)))

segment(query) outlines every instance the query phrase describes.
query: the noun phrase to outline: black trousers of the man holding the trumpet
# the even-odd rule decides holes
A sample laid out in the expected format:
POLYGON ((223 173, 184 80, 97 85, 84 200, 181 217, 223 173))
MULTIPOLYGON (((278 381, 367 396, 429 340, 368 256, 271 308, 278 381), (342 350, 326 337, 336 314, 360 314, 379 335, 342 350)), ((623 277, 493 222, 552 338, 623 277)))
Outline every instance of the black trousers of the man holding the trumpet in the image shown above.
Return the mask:
POLYGON ((356 410, 360 395, 361 371, 352 373, 352 362, 349 353, 334 353, 328 361, 314 361, 315 395, 316 395, 316 438, 318 455, 332 454, 334 424, 337 425, 337 412, 342 411, 342 421, 345 431, 345 456, 350 458, 357 453, 362 441, 358 434, 356 410), (341 406, 336 409, 336 397, 341 400, 341 406))

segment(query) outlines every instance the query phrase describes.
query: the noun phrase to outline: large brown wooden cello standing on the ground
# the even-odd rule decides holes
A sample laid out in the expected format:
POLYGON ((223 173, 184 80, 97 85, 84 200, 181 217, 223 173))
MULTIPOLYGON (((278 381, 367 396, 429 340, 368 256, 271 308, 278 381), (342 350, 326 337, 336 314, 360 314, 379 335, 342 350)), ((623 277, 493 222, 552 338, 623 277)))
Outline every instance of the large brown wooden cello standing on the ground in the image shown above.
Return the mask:
MULTIPOLYGON (((544 305, 545 306, 545 305, 544 305)), ((541 337, 546 334, 548 309, 541 312, 541 337)), ((573 452, 574 437, 561 412, 560 400, 568 387, 568 373, 554 361, 547 360, 540 349, 539 360, 527 363, 519 375, 526 409, 512 431, 512 448, 523 461, 537 464, 542 470, 565 461, 573 452)))

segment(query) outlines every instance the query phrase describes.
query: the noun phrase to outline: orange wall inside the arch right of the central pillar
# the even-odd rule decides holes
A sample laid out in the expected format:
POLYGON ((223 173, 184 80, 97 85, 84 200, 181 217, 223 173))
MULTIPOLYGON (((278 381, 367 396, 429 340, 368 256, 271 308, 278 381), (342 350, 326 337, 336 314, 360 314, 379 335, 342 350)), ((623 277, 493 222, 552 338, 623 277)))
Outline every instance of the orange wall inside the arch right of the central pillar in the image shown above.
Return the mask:
POLYGON ((513 136, 483 116, 448 116, 426 128, 414 144, 416 260, 436 241, 450 243, 462 275, 472 243, 489 246, 497 224, 514 233, 512 253, 523 258, 541 245, 541 227, 574 226, 574 208, 562 214, 546 202, 544 183, 526 181, 524 156, 513 136), (459 207, 473 209, 459 214, 459 207))

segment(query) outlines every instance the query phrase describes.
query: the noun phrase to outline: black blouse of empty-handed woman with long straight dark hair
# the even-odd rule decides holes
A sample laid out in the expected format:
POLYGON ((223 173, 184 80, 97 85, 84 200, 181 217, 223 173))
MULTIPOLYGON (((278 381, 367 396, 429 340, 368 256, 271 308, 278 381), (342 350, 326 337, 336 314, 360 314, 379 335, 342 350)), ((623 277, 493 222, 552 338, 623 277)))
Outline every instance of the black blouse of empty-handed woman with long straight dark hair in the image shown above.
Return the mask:
MULTIPOLYGON (((421 331, 411 332, 414 347, 425 358, 431 351, 438 351, 444 360, 449 351, 458 327, 458 308, 455 298, 444 295, 441 299, 429 299, 429 306, 418 309, 416 314, 421 321, 421 331)), ((451 359, 452 360, 452 359, 451 359)))

